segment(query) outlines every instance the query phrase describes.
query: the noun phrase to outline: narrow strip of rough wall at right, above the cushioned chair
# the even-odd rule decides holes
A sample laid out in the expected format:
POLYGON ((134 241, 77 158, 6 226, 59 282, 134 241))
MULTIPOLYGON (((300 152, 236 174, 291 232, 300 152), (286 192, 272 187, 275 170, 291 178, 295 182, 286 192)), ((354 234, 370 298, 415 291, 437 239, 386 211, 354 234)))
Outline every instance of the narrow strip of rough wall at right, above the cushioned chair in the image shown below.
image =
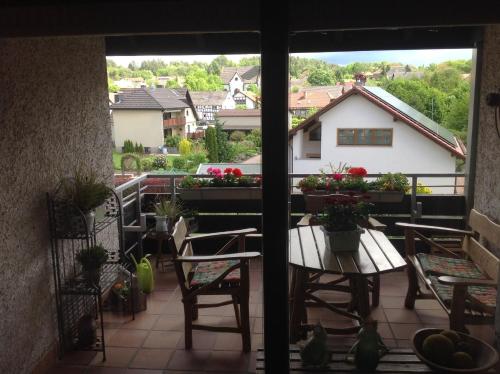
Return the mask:
POLYGON ((500 88, 500 25, 486 28, 483 61, 474 206, 500 222, 500 138, 486 105, 486 94, 500 88))

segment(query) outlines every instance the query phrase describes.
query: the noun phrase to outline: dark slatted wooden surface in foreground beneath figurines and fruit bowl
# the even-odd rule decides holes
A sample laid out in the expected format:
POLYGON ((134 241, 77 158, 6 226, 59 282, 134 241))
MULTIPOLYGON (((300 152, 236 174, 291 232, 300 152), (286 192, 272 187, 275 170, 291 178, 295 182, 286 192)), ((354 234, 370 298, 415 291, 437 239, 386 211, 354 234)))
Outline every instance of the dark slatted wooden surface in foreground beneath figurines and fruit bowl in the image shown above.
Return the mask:
MULTIPOLYGON (((290 347, 290 372, 329 372, 329 373, 359 373, 354 364, 346 360, 349 348, 332 349, 332 357, 328 367, 322 369, 304 368, 300 360, 300 351, 297 346, 290 347)), ((352 355, 351 355, 352 357, 352 355)), ((257 351, 257 373, 264 373, 264 351, 257 351)), ((494 369, 488 373, 494 373, 494 369)), ((430 367, 424 364, 408 348, 391 349, 381 359, 375 373, 433 373, 430 367)))

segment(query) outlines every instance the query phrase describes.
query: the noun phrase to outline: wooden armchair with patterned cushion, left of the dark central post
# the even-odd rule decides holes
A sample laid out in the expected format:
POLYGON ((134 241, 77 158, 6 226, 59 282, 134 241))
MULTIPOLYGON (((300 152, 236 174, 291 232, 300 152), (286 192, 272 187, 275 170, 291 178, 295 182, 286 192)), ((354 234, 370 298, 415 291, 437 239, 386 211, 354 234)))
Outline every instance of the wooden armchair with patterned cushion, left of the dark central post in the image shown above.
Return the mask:
POLYGON ((218 232, 188 236, 188 227, 183 217, 174 227, 169 241, 174 266, 182 291, 184 304, 185 347, 192 347, 192 330, 208 330, 240 333, 243 339, 243 351, 250 351, 249 317, 249 268, 251 258, 260 256, 258 252, 245 252, 245 236, 255 233, 256 229, 218 232), (192 242, 211 238, 229 238, 229 241, 217 253, 211 256, 195 256, 192 242), (237 244, 238 252, 225 254, 237 244), (229 299, 216 303, 198 303, 198 296, 228 295, 229 299), (237 327, 207 326, 195 324, 199 308, 214 308, 233 304, 237 327))

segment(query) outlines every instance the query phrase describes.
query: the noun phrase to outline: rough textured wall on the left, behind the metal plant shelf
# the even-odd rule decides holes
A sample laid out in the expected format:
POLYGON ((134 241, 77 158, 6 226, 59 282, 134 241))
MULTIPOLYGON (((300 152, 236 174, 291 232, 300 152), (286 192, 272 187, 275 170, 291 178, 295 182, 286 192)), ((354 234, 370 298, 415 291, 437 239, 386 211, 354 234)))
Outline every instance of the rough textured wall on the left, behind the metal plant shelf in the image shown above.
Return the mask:
POLYGON ((57 330, 45 192, 83 163, 112 175, 103 38, 0 39, 0 372, 57 330))

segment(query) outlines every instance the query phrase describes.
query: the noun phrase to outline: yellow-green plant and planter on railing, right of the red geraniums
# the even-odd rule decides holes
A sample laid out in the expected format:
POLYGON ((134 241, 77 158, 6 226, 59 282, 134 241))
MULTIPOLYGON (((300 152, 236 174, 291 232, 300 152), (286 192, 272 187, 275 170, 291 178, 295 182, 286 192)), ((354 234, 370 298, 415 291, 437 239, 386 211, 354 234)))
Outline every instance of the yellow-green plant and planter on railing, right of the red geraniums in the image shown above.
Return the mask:
POLYGON ((369 193, 372 201, 400 202, 409 189, 410 183, 403 174, 387 173, 372 182, 369 193))

